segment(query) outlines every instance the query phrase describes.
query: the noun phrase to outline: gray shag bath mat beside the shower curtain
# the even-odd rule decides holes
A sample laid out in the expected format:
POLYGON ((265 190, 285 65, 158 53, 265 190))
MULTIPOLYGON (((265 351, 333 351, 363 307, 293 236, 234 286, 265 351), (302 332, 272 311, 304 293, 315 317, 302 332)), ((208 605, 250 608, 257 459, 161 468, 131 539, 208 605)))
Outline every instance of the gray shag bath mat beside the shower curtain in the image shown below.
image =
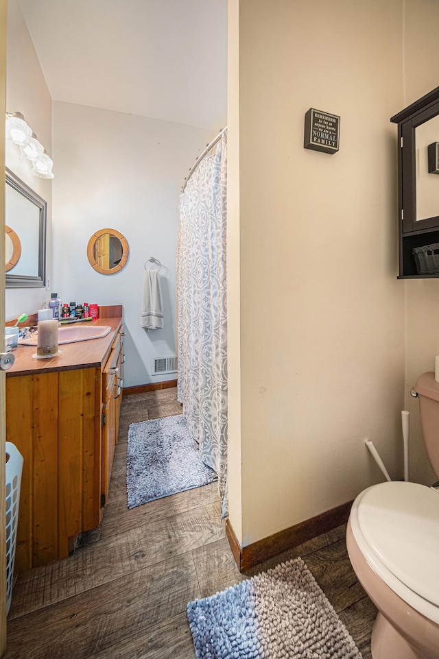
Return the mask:
POLYGON ((128 430, 128 508, 217 480, 201 462, 181 414, 132 423, 128 430))

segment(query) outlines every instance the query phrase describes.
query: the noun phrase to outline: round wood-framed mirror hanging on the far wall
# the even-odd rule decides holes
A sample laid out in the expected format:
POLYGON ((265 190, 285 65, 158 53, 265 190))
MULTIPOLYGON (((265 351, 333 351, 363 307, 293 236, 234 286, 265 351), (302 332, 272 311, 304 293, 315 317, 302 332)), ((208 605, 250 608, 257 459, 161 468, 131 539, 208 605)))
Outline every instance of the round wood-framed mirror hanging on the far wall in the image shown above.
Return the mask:
POLYGON ((101 274, 115 274, 128 261, 128 242, 115 229, 101 229, 93 234, 87 245, 91 267, 101 274))

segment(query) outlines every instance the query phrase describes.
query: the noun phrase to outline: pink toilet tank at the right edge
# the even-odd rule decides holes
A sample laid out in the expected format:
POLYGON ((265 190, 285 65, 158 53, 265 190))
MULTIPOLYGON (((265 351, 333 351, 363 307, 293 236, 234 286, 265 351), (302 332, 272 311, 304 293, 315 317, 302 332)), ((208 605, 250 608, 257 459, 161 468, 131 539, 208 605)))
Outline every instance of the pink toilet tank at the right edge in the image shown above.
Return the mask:
POLYGON ((434 379, 433 372, 423 373, 414 388, 419 397, 425 448, 430 464, 439 477, 439 382, 434 379))

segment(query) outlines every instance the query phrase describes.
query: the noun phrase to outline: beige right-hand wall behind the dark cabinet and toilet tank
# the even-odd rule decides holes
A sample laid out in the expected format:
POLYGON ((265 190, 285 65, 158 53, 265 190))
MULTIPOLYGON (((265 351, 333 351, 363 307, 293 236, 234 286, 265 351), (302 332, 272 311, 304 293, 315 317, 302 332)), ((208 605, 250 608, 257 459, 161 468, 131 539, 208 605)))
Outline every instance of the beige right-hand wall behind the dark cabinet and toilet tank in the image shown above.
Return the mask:
MULTIPOLYGON (((439 3, 405 0, 405 102, 413 103, 439 85, 439 61, 431 56, 437 38, 439 3)), ((405 282, 406 351, 405 405, 410 411, 410 477, 430 484, 434 474, 427 461, 418 414, 410 389, 419 374, 434 370, 439 355, 439 280, 405 282)))

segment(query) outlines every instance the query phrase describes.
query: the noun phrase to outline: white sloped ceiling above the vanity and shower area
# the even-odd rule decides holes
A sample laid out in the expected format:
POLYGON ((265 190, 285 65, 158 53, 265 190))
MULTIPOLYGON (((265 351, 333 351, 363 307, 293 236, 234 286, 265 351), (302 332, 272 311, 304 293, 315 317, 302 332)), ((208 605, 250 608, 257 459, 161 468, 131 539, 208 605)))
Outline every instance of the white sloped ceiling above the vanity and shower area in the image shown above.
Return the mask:
POLYGON ((219 130, 227 0, 19 0, 51 97, 219 130))

